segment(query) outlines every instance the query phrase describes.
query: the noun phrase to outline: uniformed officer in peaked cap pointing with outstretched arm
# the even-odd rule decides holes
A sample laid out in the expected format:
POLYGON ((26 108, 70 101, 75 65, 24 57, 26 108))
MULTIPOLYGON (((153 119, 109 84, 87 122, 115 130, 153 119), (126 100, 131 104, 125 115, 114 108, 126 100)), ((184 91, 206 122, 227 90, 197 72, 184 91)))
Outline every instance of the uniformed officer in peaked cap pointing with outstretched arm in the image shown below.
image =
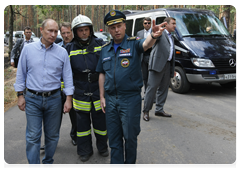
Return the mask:
POLYGON ((126 16, 118 10, 105 16, 104 23, 113 40, 102 47, 96 69, 100 73, 100 100, 106 113, 112 168, 136 167, 143 86, 140 54, 152 47, 166 25, 156 26, 154 20, 151 35, 139 39, 125 34, 125 20, 126 16))

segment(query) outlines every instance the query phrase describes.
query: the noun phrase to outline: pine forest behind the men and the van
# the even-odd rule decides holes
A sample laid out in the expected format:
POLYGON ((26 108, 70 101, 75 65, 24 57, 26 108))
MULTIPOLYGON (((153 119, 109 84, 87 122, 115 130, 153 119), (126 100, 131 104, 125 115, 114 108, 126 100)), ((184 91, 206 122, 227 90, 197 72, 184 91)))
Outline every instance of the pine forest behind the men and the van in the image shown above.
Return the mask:
MULTIPOLYGON (((43 20, 52 18, 61 22, 72 22, 78 14, 88 16, 94 25, 94 31, 106 31, 103 19, 112 9, 151 10, 157 8, 199 8, 213 11, 219 19, 225 17, 227 29, 233 34, 238 29, 238 5, 4 5, 4 33, 23 30, 30 26, 37 37, 41 36, 40 25, 43 20)), ((9 43, 9 50, 12 43, 9 43)), ((10 53, 10 51, 9 51, 10 53)))

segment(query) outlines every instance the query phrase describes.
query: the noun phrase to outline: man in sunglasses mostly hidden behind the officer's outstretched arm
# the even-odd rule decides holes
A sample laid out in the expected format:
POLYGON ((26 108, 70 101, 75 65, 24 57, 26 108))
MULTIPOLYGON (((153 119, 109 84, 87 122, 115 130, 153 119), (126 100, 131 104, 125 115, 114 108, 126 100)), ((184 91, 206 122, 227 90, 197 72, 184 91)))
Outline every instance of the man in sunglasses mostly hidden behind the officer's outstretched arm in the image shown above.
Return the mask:
MULTIPOLYGON (((149 34, 151 34, 151 18, 145 17, 143 18, 143 30, 137 32, 137 37, 140 38, 147 38, 149 34)), ((150 57, 150 52, 152 48, 149 48, 147 51, 141 54, 141 67, 142 67, 142 76, 143 76, 143 83, 144 83, 144 93, 147 89, 147 81, 148 81, 148 62, 150 57)))

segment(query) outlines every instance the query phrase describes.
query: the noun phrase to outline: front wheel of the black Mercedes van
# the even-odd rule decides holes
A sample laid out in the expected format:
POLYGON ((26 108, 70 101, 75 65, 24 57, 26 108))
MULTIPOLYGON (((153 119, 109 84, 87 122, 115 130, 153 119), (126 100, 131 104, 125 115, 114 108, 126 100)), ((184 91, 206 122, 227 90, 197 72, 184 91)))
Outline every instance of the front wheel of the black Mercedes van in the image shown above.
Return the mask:
POLYGON ((175 93, 187 93, 190 89, 190 83, 187 80, 185 72, 179 66, 175 67, 176 76, 170 79, 170 87, 175 93))

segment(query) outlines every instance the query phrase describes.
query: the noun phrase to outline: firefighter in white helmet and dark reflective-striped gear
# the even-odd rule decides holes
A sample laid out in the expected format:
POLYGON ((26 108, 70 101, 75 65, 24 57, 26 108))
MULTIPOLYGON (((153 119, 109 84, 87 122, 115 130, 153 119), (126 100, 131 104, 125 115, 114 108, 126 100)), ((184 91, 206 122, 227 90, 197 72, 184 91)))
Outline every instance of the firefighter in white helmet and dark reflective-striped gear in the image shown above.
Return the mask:
POLYGON ((85 162, 93 154, 91 122, 100 155, 109 155, 106 118, 100 106, 99 74, 95 71, 101 46, 105 42, 94 36, 92 21, 87 16, 75 17, 72 31, 74 38, 66 50, 75 84, 73 108, 77 113, 77 153, 80 160, 85 162))

